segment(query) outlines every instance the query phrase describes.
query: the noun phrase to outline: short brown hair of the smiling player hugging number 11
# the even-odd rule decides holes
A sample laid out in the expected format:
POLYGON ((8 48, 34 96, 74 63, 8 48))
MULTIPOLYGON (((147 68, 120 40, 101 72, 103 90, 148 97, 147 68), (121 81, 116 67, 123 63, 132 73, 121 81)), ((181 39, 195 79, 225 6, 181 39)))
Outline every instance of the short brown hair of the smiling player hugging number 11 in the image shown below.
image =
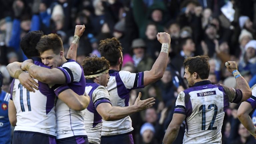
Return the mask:
POLYGON ((52 49, 55 54, 63 51, 63 44, 61 38, 57 34, 48 34, 41 37, 36 45, 39 53, 52 49))

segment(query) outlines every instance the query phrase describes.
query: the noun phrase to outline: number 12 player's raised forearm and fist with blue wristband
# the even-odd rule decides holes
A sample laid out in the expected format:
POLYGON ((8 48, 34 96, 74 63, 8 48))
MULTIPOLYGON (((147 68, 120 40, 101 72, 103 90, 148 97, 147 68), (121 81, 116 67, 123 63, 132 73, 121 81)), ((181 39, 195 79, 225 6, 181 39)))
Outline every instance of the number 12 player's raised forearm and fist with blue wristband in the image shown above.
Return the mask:
POLYGON ((242 102, 246 101, 248 98, 252 96, 252 91, 246 82, 246 80, 241 76, 241 74, 237 70, 237 64, 235 61, 228 61, 225 63, 229 72, 231 72, 236 78, 237 88, 242 91, 243 97, 242 102))

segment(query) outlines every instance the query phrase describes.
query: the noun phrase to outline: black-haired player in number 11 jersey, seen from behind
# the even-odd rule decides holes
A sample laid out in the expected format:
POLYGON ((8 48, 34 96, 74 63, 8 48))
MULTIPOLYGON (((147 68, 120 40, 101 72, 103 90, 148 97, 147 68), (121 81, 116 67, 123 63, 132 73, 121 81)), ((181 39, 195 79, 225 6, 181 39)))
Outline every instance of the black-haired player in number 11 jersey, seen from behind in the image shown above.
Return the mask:
MULTIPOLYGON (((79 29, 81 30, 81 27, 76 27, 75 31, 79 32, 79 29)), ((77 34, 81 36, 82 32, 77 34)), ((38 56, 38 51, 35 49, 35 46, 42 35, 43 33, 40 31, 31 31, 23 37, 21 40, 21 48, 27 57, 38 56)), ((74 48, 77 46, 76 44, 71 44, 71 47, 74 48)), ((41 60, 37 61, 34 59, 34 63, 46 67, 41 63, 41 60)), ((54 91, 50 89, 47 84, 40 81, 38 81, 38 88, 34 87, 32 83, 36 84, 37 80, 34 81, 28 73, 23 72, 19 68, 20 64, 15 65, 15 63, 14 65, 9 64, 7 66, 10 75, 20 80, 15 79, 12 83, 12 98, 9 103, 9 120, 13 126, 16 125, 13 143, 56 143, 54 91), (35 93, 29 92, 21 84, 35 93), (37 90, 33 90, 32 87, 37 90)), ((71 89, 67 89, 59 95, 59 99, 70 104, 71 108, 74 110, 82 110, 88 105, 86 101, 88 101, 89 97, 79 96, 71 89), (76 99, 76 101, 74 100, 72 102, 69 98, 76 99), (81 105, 83 107, 81 107, 81 105)))

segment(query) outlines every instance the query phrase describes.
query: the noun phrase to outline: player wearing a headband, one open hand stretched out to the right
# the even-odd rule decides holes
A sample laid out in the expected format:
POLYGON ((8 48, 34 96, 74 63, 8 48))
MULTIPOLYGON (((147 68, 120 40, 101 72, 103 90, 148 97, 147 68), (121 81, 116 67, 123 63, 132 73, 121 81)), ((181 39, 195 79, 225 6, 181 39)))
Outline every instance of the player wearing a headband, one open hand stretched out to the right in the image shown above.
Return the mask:
POLYGON ((84 75, 86 78, 85 92, 90 96, 90 104, 82 111, 84 126, 90 144, 100 144, 102 119, 105 121, 119 120, 128 115, 151 107, 154 98, 140 100, 139 93, 135 104, 128 107, 112 107, 106 89, 109 80, 109 62, 96 56, 86 57, 83 60, 84 75))

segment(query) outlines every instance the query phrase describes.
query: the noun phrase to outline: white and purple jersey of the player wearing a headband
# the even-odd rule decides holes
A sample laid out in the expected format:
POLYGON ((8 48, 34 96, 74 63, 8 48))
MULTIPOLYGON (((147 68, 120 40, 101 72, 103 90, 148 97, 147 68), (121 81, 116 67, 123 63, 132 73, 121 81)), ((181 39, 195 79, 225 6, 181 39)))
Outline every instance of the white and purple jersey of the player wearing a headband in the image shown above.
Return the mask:
POLYGON ((106 87, 89 79, 86 79, 85 92, 91 98, 88 107, 82 110, 88 141, 89 143, 100 144, 102 117, 96 108, 101 103, 110 103, 109 94, 106 87))

